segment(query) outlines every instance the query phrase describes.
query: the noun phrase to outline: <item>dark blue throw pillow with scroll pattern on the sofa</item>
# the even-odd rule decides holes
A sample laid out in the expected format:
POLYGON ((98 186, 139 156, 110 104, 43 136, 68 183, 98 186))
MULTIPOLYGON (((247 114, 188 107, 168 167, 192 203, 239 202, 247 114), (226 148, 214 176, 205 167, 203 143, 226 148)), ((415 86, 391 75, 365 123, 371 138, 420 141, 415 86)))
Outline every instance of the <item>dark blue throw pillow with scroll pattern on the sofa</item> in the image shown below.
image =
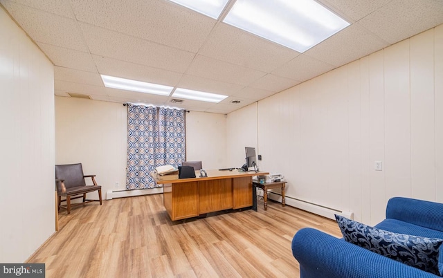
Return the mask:
POLYGON ((438 256, 443 239, 396 234, 340 215, 335 218, 345 241, 440 276, 438 256))

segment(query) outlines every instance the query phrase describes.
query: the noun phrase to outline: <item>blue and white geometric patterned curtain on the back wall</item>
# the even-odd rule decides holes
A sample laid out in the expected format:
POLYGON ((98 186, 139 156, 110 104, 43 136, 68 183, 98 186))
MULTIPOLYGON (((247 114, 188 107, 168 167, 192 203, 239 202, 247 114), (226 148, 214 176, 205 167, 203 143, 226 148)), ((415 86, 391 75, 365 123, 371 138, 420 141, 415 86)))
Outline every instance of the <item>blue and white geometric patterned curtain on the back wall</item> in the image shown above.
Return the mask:
POLYGON ((158 187, 155 167, 186 160, 185 111, 128 104, 127 189, 158 187))

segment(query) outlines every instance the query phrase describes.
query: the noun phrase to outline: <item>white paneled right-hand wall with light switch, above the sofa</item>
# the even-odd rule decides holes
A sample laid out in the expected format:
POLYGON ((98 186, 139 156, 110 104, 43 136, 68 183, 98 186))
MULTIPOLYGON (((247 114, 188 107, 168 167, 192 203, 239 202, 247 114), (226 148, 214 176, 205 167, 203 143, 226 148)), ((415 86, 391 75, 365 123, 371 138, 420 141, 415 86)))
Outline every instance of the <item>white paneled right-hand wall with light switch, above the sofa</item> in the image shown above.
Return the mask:
MULTIPOLYGON (((228 115, 253 118, 246 107, 228 115)), ((228 157, 251 131, 228 124, 228 157)), ((258 103, 262 168, 287 196, 375 224, 392 196, 443 202, 443 26, 258 103), (374 161, 383 171, 374 171, 374 161)))

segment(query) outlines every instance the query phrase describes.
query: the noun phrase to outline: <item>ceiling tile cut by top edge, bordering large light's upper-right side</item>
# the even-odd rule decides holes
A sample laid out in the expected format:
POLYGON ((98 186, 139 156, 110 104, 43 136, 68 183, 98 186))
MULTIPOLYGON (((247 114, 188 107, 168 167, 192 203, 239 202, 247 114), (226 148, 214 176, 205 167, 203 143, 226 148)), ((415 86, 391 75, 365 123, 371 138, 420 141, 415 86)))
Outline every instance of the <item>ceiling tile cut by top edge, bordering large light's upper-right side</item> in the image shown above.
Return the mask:
POLYGON ((359 21, 363 17, 370 15, 375 10, 385 6, 392 0, 320 0, 331 10, 338 10, 341 14, 350 17, 354 21, 359 21))

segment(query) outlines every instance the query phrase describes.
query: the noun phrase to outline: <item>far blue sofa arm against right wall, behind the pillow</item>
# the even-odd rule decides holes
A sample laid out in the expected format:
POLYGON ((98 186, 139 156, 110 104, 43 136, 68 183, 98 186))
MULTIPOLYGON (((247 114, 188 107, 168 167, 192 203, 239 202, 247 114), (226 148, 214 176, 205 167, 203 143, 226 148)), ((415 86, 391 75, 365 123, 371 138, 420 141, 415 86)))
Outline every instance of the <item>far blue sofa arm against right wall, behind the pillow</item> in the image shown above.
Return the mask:
POLYGON ((386 219, 397 219, 440 232, 443 232, 442 215, 442 203, 394 197, 386 205, 386 219))

